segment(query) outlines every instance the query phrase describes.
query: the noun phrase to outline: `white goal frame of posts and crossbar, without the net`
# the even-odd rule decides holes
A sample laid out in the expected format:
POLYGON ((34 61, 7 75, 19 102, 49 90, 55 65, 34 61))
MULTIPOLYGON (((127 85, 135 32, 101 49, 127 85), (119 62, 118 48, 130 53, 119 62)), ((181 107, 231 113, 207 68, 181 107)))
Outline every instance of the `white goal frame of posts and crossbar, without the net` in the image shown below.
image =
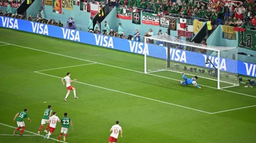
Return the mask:
MULTIPOLYGON (((170 35, 168 35, 168 36, 170 36, 170 35)), ((170 37, 172 37, 172 36, 170 36, 170 37)), ((145 36, 145 40, 144 40, 144 46, 145 46, 145 52, 144 52, 144 73, 146 73, 146 74, 153 73, 153 72, 159 72, 159 71, 171 71, 171 72, 181 73, 181 72, 172 71, 172 70, 158 70, 158 71, 153 71, 153 72, 147 72, 147 51, 148 51, 147 40, 156 40, 156 41, 172 43, 172 44, 178 44, 178 45, 183 45, 183 46, 190 46, 190 47, 195 47, 195 48, 200 48, 200 49, 213 50, 213 51, 217 52, 217 58, 218 59, 220 59, 220 51, 222 51, 222 50, 211 48, 211 47, 203 47, 203 46, 201 47, 201 46, 197 46, 197 45, 190 45, 190 44, 187 44, 187 43, 179 43, 179 42, 175 42, 175 41, 168 41, 168 40, 162 40, 162 39, 155 38, 155 37, 146 37, 145 36)), ((228 50, 228 49, 226 49, 226 50, 228 50)), ((204 78, 204 79, 213 80, 213 81, 217 81, 217 89, 223 89, 223 88, 239 86, 239 84, 234 84, 232 86, 220 88, 220 82, 224 82, 224 81, 220 81, 220 60, 217 61, 217 71, 218 71, 218 73, 217 73, 217 80, 210 79, 210 78, 203 77, 203 76, 198 76, 198 77, 201 77, 201 78, 204 78)), ((192 74, 188 74, 188 75, 192 75, 192 74)), ((194 76, 194 75, 192 75, 192 76, 194 76)), ((226 83, 228 83, 228 82, 226 82, 226 83)))

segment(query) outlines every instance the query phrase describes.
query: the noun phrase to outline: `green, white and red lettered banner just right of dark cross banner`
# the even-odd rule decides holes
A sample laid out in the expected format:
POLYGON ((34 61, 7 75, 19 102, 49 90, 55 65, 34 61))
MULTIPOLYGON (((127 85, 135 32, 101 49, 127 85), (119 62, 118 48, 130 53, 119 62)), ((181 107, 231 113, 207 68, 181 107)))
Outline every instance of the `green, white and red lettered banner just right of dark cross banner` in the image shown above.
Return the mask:
POLYGON ((156 14, 149 14, 147 12, 142 12, 142 23, 144 24, 158 26, 160 24, 159 20, 160 20, 160 17, 158 17, 156 14))

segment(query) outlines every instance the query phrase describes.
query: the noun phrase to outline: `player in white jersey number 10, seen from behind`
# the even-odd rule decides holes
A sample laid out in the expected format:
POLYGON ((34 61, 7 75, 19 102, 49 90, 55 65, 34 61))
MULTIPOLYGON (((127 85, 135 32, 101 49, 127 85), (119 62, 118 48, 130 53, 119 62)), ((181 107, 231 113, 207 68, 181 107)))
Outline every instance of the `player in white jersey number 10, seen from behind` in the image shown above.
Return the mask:
POLYGON ((119 121, 116 121, 115 125, 113 125, 109 131, 112 132, 109 137, 109 143, 117 142, 119 131, 121 132, 121 137, 123 137, 123 130, 122 127, 119 125, 119 121))

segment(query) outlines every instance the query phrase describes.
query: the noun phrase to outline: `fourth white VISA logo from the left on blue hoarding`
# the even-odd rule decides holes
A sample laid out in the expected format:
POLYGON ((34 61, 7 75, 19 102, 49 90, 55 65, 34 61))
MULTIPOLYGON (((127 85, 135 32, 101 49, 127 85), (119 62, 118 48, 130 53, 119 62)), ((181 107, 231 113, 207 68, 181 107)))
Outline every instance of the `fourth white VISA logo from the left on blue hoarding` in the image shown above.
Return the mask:
POLYGON ((110 36, 103 36, 99 34, 94 34, 96 45, 108 48, 114 48, 113 38, 110 36))

